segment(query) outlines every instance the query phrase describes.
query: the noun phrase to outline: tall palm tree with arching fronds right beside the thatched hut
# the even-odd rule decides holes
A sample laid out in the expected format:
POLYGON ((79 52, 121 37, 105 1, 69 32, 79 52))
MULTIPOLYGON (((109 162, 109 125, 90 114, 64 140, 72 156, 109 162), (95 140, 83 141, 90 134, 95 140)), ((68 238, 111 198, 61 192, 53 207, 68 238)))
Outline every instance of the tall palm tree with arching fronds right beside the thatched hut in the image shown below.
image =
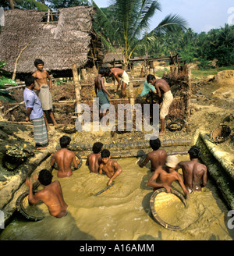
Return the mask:
POLYGON ((142 44, 143 41, 153 42, 153 38, 159 33, 186 29, 186 20, 179 15, 170 14, 154 30, 146 33, 149 30, 151 17, 156 11, 161 11, 158 0, 112 0, 108 14, 93 0, 92 3, 97 9, 96 32, 102 42, 116 54, 116 48, 121 48, 122 58, 119 56, 119 59, 124 67, 137 48, 137 44, 142 44))

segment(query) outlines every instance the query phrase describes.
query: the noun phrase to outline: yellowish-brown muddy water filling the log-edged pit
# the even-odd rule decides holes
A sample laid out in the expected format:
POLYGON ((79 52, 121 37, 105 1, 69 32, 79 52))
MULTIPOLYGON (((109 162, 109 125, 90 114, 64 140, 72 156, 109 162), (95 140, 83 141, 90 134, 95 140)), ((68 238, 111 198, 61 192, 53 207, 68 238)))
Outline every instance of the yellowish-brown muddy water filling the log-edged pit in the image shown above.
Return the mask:
MULTIPOLYGON (((180 161, 186 159, 179 156, 180 161)), ((19 213, 0 240, 233 240, 233 229, 227 226, 229 210, 211 180, 202 192, 190 194, 187 208, 172 194, 169 204, 167 194, 158 197, 155 207, 161 219, 183 228, 172 231, 155 222, 151 214, 150 165, 141 169, 137 158, 117 161, 122 173, 111 189, 97 197, 93 194, 106 187, 108 177, 89 173, 85 161, 69 178, 57 178, 54 170, 53 180, 62 185, 69 214, 56 219, 47 212, 43 220, 30 222, 19 213)), ((183 193, 179 183, 172 187, 183 193)))

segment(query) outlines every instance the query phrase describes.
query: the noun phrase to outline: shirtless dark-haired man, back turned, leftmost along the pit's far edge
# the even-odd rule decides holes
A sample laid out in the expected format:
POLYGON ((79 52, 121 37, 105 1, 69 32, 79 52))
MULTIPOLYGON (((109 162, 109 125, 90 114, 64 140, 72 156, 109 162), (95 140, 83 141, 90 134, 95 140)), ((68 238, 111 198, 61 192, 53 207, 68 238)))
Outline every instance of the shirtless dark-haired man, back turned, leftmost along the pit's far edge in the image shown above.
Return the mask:
POLYGON ((78 168, 80 159, 76 160, 76 155, 73 151, 69 151, 68 147, 71 138, 62 136, 60 138, 61 149, 55 152, 51 159, 51 166, 55 168, 55 162, 58 164, 58 178, 69 177, 73 175, 71 165, 74 164, 75 169, 78 168))

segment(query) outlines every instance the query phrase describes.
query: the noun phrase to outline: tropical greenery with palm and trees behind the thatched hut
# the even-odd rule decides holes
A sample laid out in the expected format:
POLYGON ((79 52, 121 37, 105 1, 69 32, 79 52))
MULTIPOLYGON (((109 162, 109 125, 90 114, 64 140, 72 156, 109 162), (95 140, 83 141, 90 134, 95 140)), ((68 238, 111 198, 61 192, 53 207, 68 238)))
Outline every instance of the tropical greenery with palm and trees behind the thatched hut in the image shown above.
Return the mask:
POLYGON ((201 69, 214 59, 218 66, 234 64, 234 26, 229 24, 197 34, 179 14, 170 14, 149 31, 151 17, 161 11, 159 0, 110 0, 107 8, 99 8, 89 0, 3 0, 0 3, 4 9, 39 10, 76 5, 96 7, 94 30, 106 48, 117 55, 117 49, 121 49, 119 59, 123 66, 134 56, 161 57, 177 53, 187 63, 197 61, 201 69))

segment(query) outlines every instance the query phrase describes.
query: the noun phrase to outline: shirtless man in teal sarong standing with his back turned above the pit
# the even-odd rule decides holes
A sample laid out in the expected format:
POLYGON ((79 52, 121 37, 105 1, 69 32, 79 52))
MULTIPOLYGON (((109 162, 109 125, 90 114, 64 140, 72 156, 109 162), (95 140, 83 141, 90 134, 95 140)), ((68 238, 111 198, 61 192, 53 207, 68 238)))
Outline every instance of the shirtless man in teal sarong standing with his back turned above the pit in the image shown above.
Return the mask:
POLYGON ((112 94, 110 94, 104 85, 103 76, 105 76, 107 69, 100 68, 98 70, 98 76, 94 80, 95 85, 95 93, 97 95, 97 98, 99 98, 99 113, 100 113, 100 119, 105 116, 107 108, 109 107, 109 100, 108 96, 110 98, 114 98, 112 94))

